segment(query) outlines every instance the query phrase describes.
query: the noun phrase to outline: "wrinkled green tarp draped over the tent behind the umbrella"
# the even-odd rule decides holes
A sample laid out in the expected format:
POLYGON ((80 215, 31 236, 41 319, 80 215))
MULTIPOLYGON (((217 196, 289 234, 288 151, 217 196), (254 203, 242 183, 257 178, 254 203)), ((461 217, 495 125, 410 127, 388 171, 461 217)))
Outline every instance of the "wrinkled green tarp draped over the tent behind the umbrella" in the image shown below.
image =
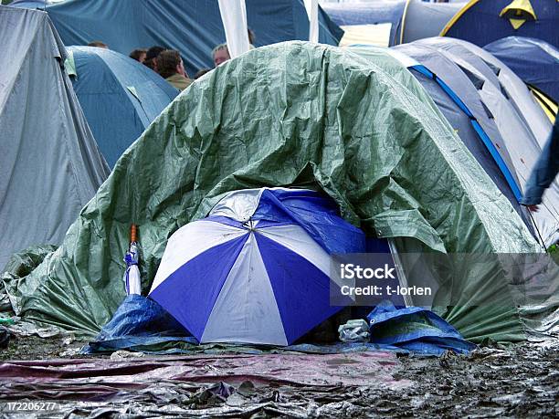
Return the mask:
MULTIPOLYGON (((403 66, 397 80, 407 86, 384 65, 290 42, 251 50, 197 79, 124 152, 57 252, 11 289, 21 298, 18 313, 99 331, 124 298, 121 255, 131 223, 139 225, 146 290, 174 231, 206 216, 223 194, 261 186, 320 188, 346 220, 371 236, 396 237, 397 246, 537 252, 427 92, 403 66)), ((496 269, 464 268, 435 301, 445 305, 452 292, 454 309, 443 314, 467 339, 525 337, 496 269)))

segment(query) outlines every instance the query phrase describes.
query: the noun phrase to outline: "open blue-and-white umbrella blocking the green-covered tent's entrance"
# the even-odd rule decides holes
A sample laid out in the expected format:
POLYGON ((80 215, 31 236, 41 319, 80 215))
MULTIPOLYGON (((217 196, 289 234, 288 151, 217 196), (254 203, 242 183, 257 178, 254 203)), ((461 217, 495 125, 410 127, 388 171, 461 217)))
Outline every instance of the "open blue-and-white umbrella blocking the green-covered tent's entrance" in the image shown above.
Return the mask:
POLYGON ((201 343, 289 345, 341 309, 329 253, 364 251, 336 211, 308 190, 227 194, 169 238, 150 297, 201 343))

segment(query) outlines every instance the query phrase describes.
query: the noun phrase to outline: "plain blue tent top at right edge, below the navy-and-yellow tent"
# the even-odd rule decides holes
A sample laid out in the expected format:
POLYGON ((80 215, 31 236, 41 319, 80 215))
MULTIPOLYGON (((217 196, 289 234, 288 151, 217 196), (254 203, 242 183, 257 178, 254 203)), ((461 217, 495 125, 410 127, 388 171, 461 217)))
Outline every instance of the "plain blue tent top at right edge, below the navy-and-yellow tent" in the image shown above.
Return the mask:
POLYGON ((559 101, 559 49, 533 37, 505 37, 484 47, 518 77, 559 101))

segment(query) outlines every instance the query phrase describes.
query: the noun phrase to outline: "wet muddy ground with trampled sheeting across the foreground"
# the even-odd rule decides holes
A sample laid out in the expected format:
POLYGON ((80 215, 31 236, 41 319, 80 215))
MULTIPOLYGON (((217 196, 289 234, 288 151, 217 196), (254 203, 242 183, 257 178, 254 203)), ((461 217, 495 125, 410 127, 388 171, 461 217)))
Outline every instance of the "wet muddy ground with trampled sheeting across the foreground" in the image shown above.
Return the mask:
POLYGON ((442 358, 382 351, 84 358, 76 354, 82 343, 25 336, 1 350, 5 417, 559 414, 556 341, 494 345, 442 358))

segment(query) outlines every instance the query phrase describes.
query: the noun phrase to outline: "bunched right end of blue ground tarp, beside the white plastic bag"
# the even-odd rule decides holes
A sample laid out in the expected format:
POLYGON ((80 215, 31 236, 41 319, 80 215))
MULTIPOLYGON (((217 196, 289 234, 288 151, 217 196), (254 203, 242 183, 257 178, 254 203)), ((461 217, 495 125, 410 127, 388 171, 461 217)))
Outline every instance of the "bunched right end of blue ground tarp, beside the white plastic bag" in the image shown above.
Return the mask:
POLYGON ((367 316, 371 342, 407 351, 440 355, 445 351, 469 353, 476 345, 428 309, 397 308, 384 301, 367 316))

